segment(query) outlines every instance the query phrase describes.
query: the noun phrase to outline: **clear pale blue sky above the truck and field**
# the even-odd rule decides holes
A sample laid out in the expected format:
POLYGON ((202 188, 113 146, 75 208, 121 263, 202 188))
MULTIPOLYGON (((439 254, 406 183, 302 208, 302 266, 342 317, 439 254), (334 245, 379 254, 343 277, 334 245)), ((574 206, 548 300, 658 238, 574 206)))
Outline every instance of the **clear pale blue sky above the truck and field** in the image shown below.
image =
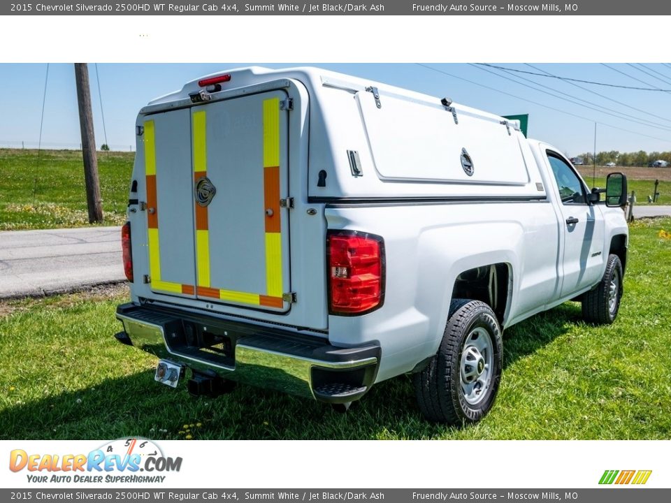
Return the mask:
MULTIPOLYGON (((107 143, 113 150, 134 150, 135 117, 147 101, 179 89, 187 80, 201 75, 251 64, 269 68, 299 65, 98 64, 107 143)), ((554 78, 505 73, 496 68, 468 64, 426 64, 431 68, 419 64, 314 66, 433 96, 449 96, 455 103, 500 115, 528 113, 530 136, 555 145, 569 156, 593 150, 595 122, 598 123, 596 147, 599 151, 671 150, 671 92, 577 83, 583 88, 581 89, 554 78), (538 89, 556 96, 549 96, 538 89)), ((602 64, 533 63, 535 68, 524 64, 496 66, 537 73, 544 71, 562 77, 611 85, 671 89, 671 65, 664 64, 608 64, 610 68, 602 64)), ((20 147, 22 141, 26 147, 36 147, 40 133, 46 69, 46 64, 0 64, 0 147, 20 147)), ((94 64, 89 64, 89 77, 96 144, 101 145, 105 143, 105 131, 94 64)), ((42 145, 45 148, 76 148, 79 144, 73 66, 50 64, 42 145)))

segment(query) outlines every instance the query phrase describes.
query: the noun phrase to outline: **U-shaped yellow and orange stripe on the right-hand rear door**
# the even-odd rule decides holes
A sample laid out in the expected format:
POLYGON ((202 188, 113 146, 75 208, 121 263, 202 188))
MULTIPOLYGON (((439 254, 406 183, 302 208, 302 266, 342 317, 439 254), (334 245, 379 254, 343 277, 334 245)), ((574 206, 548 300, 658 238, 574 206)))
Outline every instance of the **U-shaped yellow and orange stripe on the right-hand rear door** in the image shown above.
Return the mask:
MULTIPOLYGON (((195 184, 208 173, 207 115, 199 110, 192 115, 193 162, 195 184)), ((280 213, 280 99, 263 102, 264 152, 264 232, 266 247, 266 295, 215 288, 211 284, 210 224, 208 207, 194 201, 196 224, 196 294, 201 297, 261 305, 281 309, 282 234, 280 213), (270 211, 268 211, 270 210, 270 211)))

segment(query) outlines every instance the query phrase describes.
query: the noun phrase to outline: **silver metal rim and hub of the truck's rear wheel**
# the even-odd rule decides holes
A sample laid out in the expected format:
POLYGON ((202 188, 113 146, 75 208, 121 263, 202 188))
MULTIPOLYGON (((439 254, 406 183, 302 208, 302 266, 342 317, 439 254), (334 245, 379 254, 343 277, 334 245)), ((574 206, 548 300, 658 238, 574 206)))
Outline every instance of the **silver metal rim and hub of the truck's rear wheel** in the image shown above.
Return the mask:
POLYGON ((484 399, 491 386, 493 344, 484 328, 475 328, 466 337, 459 367, 463 398, 475 405, 484 399))

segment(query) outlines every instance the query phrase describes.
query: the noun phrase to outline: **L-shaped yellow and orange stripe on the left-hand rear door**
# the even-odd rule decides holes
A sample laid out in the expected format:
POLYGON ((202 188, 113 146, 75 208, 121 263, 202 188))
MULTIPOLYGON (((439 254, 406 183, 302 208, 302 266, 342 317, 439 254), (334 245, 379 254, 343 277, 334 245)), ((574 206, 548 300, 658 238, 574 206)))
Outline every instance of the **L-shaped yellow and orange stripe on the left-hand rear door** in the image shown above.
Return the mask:
POLYGON ((154 121, 145 128, 145 185, 147 192, 147 247, 149 249, 149 276, 152 290, 194 295, 192 285, 166 282, 161 279, 161 249, 159 241, 159 205, 156 189, 156 130, 154 121))

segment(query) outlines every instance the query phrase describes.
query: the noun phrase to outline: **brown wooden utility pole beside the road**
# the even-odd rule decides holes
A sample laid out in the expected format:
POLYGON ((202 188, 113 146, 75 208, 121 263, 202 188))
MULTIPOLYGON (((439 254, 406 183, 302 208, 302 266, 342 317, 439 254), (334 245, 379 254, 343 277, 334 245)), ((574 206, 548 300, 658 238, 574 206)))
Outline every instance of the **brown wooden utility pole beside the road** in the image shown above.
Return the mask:
POLYGON ((79 103, 79 125, 82 131, 86 203, 89 207, 89 224, 92 224, 103 221, 103 207, 101 205, 100 181, 98 179, 96 139, 93 133, 89 69, 86 63, 75 63, 75 82, 77 83, 77 101, 79 103))

